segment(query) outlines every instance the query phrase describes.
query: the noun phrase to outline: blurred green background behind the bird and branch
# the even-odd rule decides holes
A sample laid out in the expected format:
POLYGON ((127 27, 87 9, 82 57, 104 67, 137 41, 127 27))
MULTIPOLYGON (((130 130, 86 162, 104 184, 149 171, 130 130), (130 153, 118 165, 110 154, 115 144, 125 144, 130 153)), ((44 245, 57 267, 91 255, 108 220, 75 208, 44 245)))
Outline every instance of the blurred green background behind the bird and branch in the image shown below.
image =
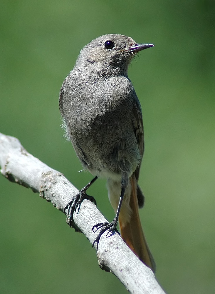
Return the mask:
MULTIPOLYGON (((167 293, 214 293, 215 1, 8 0, 0 15, 0 132, 77 188, 92 176, 63 138, 64 78, 100 35, 155 44, 129 69, 145 127, 140 216, 167 293)), ((3 176, 0 191, 0 293, 127 293, 63 213, 3 176)), ((90 195, 111 220, 105 181, 90 195)))

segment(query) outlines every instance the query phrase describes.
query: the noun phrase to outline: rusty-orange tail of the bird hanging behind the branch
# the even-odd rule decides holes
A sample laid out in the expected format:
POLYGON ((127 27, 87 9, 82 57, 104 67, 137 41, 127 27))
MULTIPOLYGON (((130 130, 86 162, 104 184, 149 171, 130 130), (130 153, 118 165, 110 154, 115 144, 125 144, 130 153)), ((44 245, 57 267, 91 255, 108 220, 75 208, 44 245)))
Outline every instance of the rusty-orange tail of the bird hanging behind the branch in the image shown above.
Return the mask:
POLYGON ((138 202, 137 202, 137 181, 135 175, 130 178, 131 181, 131 198, 130 198, 130 208, 131 208, 131 218, 130 222, 122 225, 119 215, 119 226, 122 239, 128 245, 128 247, 140 258, 140 260, 145 263, 149 268, 155 272, 155 262, 149 247, 146 243, 146 239, 142 230, 140 223, 140 216, 138 212, 138 202))

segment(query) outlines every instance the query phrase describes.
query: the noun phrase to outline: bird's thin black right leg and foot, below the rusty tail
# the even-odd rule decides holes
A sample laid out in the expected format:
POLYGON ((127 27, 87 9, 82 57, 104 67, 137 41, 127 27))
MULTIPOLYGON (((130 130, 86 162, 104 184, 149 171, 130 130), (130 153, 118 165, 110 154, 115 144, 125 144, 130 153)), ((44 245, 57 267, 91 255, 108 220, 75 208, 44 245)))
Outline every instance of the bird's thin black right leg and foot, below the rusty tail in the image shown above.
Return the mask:
POLYGON ((120 200, 119 200, 119 204, 118 204, 118 208, 117 208, 117 212, 116 212, 116 216, 115 218, 112 220, 112 222, 110 223, 97 223, 93 226, 93 232, 95 233, 98 229, 101 228, 98 236, 96 237, 96 239, 94 240, 93 242, 93 246, 95 244, 95 242, 97 242, 97 246, 98 246, 98 243, 99 243, 99 239, 101 237, 101 235, 108 230, 108 233, 106 234, 106 237, 110 237, 108 236, 109 233, 112 233, 113 230, 115 230, 119 235, 120 233, 118 232, 117 230, 117 223, 118 223, 118 217, 119 217, 119 214, 120 214, 120 208, 122 206, 122 201, 123 201, 123 197, 124 197, 124 194, 125 194, 125 188, 127 187, 127 183, 128 183, 128 178, 126 175, 124 175, 122 177, 122 180, 121 180, 121 194, 120 194, 120 200), (95 229, 95 230, 94 230, 95 229))

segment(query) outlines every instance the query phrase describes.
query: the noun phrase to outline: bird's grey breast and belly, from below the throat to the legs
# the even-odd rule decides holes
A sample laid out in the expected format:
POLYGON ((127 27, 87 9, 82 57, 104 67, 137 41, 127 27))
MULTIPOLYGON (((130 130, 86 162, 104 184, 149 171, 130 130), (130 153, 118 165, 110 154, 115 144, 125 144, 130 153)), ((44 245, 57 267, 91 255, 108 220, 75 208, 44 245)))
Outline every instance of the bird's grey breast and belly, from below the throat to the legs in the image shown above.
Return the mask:
POLYGON ((133 127, 133 88, 129 80, 121 77, 89 81, 73 86, 73 92, 69 89, 66 123, 85 168, 100 175, 134 172, 140 152, 133 127))

